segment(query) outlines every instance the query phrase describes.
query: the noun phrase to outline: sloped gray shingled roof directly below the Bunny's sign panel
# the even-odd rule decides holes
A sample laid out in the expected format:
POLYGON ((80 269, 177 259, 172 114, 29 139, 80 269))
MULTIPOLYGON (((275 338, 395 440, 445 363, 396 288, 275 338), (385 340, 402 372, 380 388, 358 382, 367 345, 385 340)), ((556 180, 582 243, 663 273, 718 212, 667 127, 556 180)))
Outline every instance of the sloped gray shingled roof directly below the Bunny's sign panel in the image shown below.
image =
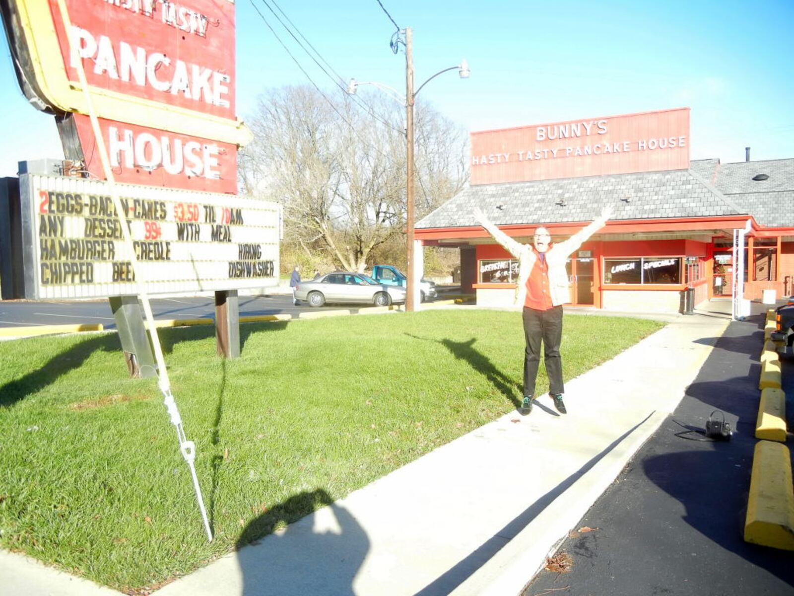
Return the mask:
POLYGON ((416 223, 418 228, 480 225, 474 207, 499 226, 588 222, 607 203, 614 219, 741 215, 748 211, 690 170, 468 186, 416 223), (622 199, 629 201, 623 202, 622 199), (499 207, 501 206, 501 207, 499 207))

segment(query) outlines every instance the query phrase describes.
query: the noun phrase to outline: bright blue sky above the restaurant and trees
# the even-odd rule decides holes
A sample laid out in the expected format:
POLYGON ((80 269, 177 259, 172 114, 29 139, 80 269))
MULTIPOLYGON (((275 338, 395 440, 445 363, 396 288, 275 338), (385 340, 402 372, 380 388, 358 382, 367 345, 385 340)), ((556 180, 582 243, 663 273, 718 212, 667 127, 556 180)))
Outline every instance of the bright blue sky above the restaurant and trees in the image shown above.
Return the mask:
MULTIPOLYGON (((98 2, 99 0, 94 0, 98 2)), ((688 106, 692 159, 794 157, 794 2, 414 2, 381 0, 414 31, 416 84, 468 60, 422 90, 464 129, 489 130, 688 106)), ((308 83, 256 13, 267 18, 314 82, 333 83, 262 0, 237 0, 237 114, 268 87, 308 83)), ((276 9, 276 6, 271 6, 276 9)), ((278 6, 343 78, 404 91, 405 59, 377 0, 278 6)), ((52 117, 19 91, 3 37, 0 176, 17 161, 63 157, 52 117)))

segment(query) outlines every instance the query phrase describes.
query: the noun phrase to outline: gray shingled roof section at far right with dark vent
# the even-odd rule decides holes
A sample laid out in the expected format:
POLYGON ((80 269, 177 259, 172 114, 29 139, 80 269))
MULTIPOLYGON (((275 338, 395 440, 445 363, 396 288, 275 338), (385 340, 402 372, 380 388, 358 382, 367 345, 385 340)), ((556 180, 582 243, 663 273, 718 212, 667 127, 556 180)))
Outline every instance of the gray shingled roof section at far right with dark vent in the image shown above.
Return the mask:
POLYGON ((794 226, 794 159, 739 161, 696 160, 689 164, 761 226, 794 226), (753 180, 766 174, 768 180, 753 180))

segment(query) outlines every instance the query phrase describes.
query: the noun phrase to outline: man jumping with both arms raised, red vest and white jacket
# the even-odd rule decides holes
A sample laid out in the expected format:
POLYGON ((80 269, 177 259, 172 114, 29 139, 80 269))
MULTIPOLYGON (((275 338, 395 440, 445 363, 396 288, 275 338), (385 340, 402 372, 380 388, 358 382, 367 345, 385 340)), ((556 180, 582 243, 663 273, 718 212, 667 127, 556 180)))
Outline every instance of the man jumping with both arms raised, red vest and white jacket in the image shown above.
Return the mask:
POLYGON ((485 214, 476 208, 474 216, 488 234, 499 242, 508 253, 518 259, 518 281, 515 288, 515 304, 522 306, 524 323, 524 398, 518 412, 526 416, 532 410, 535 397, 535 379, 541 357, 541 342, 544 344, 544 362, 549 375, 549 395, 557 412, 565 414, 562 382, 562 305, 569 302, 569 279, 565 261, 584 242, 600 230, 612 216, 612 207, 604 208, 593 223, 573 234, 565 242, 551 242, 551 234, 544 226, 535 229, 534 246, 517 242, 499 230, 485 214))

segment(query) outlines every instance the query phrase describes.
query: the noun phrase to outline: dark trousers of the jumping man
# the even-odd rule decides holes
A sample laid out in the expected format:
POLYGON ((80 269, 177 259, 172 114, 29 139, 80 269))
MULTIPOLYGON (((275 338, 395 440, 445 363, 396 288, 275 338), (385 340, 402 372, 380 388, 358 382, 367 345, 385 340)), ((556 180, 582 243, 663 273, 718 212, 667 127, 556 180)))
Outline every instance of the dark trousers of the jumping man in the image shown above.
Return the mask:
POLYGON ((546 374, 549 375, 549 393, 565 393, 562 385, 562 360, 560 343, 562 341, 562 307, 555 306, 548 311, 536 311, 524 307, 524 395, 535 394, 535 378, 541 361, 541 340, 543 340, 546 374))

